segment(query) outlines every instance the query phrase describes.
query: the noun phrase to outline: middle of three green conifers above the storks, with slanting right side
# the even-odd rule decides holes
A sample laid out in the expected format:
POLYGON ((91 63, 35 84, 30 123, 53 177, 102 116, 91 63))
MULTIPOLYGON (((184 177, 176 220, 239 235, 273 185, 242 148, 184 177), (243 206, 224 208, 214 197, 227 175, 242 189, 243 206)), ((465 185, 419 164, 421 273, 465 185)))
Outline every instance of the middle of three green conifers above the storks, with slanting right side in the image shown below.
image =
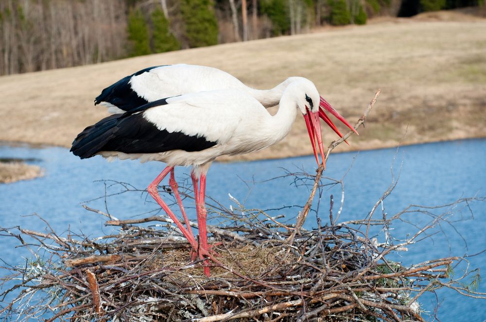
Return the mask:
POLYGON ((153 52, 166 52, 181 48, 181 44, 169 30, 169 21, 160 9, 152 12, 153 52))

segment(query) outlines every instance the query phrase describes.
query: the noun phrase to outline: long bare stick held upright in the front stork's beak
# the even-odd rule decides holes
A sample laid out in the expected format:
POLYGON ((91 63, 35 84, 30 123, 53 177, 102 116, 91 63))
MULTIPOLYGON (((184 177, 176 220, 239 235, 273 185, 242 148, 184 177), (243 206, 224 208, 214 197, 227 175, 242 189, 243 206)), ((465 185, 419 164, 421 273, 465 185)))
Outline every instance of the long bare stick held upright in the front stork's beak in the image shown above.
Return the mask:
MULTIPOLYGON (((375 105, 375 102, 376 102, 376 99, 377 97, 380 95, 380 92, 381 90, 379 89, 378 91, 376 91, 375 93, 375 96, 371 99, 371 101, 369 102, 368 104, 368 107, 366 108, 366 110, 364 111, 363 115, 361 115, 360 119, 358 120, 358 122, 356 123, 356 125, 354 126, 354 129, 358 129, 362 124, 364 124, 364 120, 366 119, 366 117, 368 116, 369 112, 373 109, 373 106, 375 105)), ((328 146, 328 151, 326 152, 326 157, 324 158, 325 161, 328 160, 329 158, 329 155, 331 153, 331 151, 338 145, 340 145, 341 143, 343 143, 349 136, 351 136, 354 132, 353 131, 349 131, 347 132, 342 138, 340 138, 339 140, 336 140, 334 142, 332 142, 329 146, 328 146)), ((307 214, 309 213, 309 210, 311 209, 311 206, 312 206, 312 201, 314 199, 314 196, 315 196, 315 193, 317 191, 317 188, 319 187, 319 182, 321 180, 321 177, 322 177, 322 172, 324 171, 324 165, 321 164, 319 165, 319 167, 317 168, 317 171, 316 171, 316 175, 315 175, 315 180, 314 180, 314 185, 312 187, 312 191, 311 191, 311 195, 309 196, 309 199, 307 199, 307 202, 304 206, 304 209, 302 209, 302 211, 298 214, 297 216, 297 222, 295 224, 295 229, 294 231, 292 232, 292 234, 289 236, 289 238, 287 238, 287 242, 292 245, 293 242, 294 242, 294 238, 295 238, 295 235, 297 233, 300 232, 300 228, 302 228, 302 225, 304 225, 305 223, 305 220, 307 218, 307 214)))

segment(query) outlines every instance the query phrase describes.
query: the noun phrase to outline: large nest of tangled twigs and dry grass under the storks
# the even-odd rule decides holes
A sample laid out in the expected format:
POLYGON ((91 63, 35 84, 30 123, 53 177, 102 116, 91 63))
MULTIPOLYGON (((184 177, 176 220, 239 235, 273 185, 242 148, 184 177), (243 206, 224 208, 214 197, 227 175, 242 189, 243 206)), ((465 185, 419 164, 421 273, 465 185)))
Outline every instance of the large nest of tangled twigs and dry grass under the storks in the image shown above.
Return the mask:
MULTIPOLYGON (((330 145, 327 155, 344 139, 330 145)), ((385 212, 374 219, 393 190, 392 183, 364 220, 336 224, 331 196, 328 225, 317 219, 316 229, 305 230, 302 225, 313 197, 323 186, 322 171, 321 166, 315 175, 296 179, 310 180, 312 189, 295 225, 280 223, 278 217, 260 210, 244 209, 237 200, 236 208, 213 208, 230 220, 226 225, 208 225, 212 247, 207 260, 193 260, 189 244, 162 216, 119 220, 86 207, 109 217, 106 225, 119 227, 116 233, 99 238, 61 237, 52 229, 0 228, 24 246, 35 244, 48 251, 48 256, 21 267, 4 267, 11 274, 1 278, 8 287, 0 294, 4 303, 0 315, 5 320, 47 318, 48 322, 424 321, 417 300, 425 291, 450 287, 474 294, 460 284, 468 271, 450 277, 451 264, 460 258, 409 267, 387 259, 391 252, 426 238, 428 229, 447 220, 459 204, 467 207, 471 199, 435 208, 439 214, 415 207, 390 219, 385 212), (425 213, 431 220, 405 241, 393 239, 389 225, 411 213, 425 213), (144 225, 153 222, 158 227, 144 225), (372 238, 371 230, 381 233, 372 238), (210 265, 210 277, 203 274, 203 265, 210 265)))

